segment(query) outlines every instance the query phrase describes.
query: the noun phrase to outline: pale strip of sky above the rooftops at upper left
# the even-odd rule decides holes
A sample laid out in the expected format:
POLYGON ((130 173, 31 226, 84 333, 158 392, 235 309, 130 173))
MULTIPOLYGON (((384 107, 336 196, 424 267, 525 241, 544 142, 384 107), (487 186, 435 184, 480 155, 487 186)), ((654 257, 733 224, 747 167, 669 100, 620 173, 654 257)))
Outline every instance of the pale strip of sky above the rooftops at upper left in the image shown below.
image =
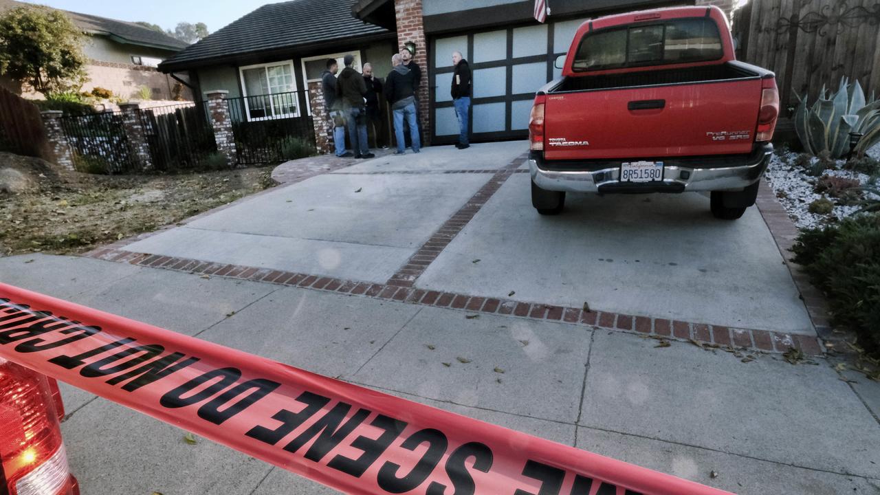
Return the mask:
POLYGON ((106 0, 25 0, 65 11, 136 22, 144 20, 165 29, 174 29, 179 22, 203 22, 214 33, 237 18, 263 4, 282 0, 149 0, 148 2, 107 2, 106 0))

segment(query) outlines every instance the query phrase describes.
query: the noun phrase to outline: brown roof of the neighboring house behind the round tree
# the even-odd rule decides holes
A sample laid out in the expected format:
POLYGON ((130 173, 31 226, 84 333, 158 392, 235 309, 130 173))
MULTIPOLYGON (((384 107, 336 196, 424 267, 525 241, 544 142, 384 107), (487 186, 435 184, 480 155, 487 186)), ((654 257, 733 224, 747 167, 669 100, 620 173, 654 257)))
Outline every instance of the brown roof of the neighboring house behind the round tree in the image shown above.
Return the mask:
MULTIPOLYGON (((12 0, 0 0, 0 12, 8 11, 16 7, 31 5, 33 4, 15 2, 12 0)), ((113 18, 102 18, 91 14, 81 14, 79 12, 62 12, 70 16, 70 20, 86 33, 114 36, 118 38, 119 41, 148 47, 165 48, 174 51, 189 46, 186 41, 180 41, 165 33, 159 33, 149 27, 140 26, 133 22, 126 22, 113 18)))

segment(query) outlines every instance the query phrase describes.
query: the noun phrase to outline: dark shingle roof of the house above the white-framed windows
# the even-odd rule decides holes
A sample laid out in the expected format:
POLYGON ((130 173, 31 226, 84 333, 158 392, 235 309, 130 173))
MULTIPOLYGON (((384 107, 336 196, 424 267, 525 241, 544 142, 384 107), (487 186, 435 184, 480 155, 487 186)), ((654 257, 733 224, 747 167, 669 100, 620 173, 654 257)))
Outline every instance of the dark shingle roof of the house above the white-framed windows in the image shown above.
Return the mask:
POLYGON ((354 0, 293 0, 263 5, 159 64, 185 70, 263 51, 390 34, 351 15, 354 0))

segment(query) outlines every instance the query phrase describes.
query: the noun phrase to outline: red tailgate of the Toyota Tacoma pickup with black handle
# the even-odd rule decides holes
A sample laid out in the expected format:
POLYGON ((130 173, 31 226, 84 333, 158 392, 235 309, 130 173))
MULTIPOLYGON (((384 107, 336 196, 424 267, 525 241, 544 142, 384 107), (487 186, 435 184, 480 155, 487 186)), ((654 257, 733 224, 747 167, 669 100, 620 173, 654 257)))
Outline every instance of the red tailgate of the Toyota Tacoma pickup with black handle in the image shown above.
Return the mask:
POLYGON ((550 93, 546 159, 630 159, 752 151, 759 78, 550 93))

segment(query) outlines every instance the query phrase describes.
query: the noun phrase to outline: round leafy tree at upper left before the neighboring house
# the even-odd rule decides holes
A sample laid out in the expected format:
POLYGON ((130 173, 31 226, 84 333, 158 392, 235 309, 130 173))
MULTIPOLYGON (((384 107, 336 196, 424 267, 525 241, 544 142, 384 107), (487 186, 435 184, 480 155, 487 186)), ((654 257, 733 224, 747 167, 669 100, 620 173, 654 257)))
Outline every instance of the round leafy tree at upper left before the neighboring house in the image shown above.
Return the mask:
POLYGON ((85 80, 84 34, 62 11, 23 6, 0 17, 0 74, 43 94, 85 80))

